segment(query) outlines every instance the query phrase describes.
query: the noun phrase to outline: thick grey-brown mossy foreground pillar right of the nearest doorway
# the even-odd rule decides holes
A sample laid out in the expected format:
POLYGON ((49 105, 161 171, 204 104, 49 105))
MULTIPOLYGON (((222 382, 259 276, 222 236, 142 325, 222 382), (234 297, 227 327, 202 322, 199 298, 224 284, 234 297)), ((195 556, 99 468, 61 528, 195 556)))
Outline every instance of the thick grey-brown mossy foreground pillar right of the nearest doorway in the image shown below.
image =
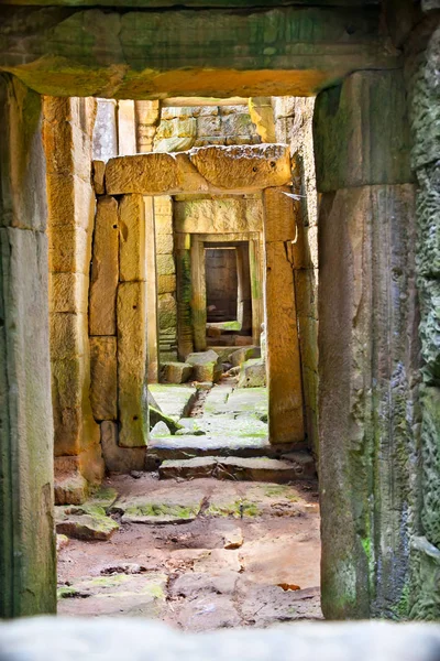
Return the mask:
POLYGON ((351 75, 315 118, 322 610, 398 617, 416 456, 414 186, 400 72, 351 75))

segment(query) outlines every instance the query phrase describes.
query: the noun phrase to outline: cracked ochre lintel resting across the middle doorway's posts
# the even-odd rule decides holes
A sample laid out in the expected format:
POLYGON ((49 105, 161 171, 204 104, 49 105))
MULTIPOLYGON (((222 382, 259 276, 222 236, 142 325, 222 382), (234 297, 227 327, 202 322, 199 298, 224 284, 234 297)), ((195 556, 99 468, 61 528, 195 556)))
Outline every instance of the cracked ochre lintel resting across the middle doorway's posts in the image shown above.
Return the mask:
POLYGON ((110 159, 106 188, 110 195, 177 193, 253 193, 290 181, 286 144, 201 147, 175 154, 147 153, 110 159))

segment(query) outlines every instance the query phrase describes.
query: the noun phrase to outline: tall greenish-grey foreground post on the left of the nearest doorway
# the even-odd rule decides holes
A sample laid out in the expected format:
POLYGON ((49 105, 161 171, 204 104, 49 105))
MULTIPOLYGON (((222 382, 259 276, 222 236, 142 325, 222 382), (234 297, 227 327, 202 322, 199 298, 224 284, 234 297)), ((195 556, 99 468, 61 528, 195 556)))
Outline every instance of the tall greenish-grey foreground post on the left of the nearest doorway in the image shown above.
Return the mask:
POLYGON ((55 613, 42 102, 0 76, 0 617, 55 613))

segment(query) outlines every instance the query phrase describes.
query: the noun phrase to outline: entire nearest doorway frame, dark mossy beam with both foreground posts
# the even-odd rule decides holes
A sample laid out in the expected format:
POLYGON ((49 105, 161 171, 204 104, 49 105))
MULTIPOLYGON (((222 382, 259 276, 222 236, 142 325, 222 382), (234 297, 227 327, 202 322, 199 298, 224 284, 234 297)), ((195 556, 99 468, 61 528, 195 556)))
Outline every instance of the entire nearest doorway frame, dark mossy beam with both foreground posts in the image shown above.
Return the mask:
MULTIPOLYGON (((438 613, 438 600, 422 578, 427 571, 438 572, 432 570, 439 544, 432 507, 437 468, 430 477, 438 438, 438 345, 432 330, 438 317, 438 272, 432 266, 437 250, 425 236, 415 241, 416 217, 430 228, 435 215, 431 145, 437 143, 431 140, 432 122, 421 109, 437 104, 437 23, 431 3, 409 4, 414 3, 405 3, 402 13, 395 3, 365 8, 360 2, 356 8, 241 8, 224 15, 220 10, 216 17, 213 10, 172 8, 165 33, 161 10, 2 10, 1 337, 7 367, 1 380, 7 423, 1 432, 8 460, 2 463, 7 477, 1 507, 2 550, 10 571, 3 573, 0 594, 7 615, 54 608, 46 197, 38 95, 227 97, 238 90, 318 95, 319 245, 327 275, 319 330, 326 614, 344 618, 438 613), (395 18, 403 15, 405 21, 397 25, 395 18), (97 21, 109 37, 99 44, 97 21), (420 25, 421 35, 416 30, 420 25), (228 47, 224 32, 231 35, 228 47), (408 46, 405 52, 403 44, 408 46), (411 167, 420 182, 417 214, 411 167), (342 260, 336 258, 341 251, 342 260), (421 256, 417 289, 416 253, 421 256), (38 516, 32 502, 42 503, 38 516)), ((277 249, 285 247, 271 246, 271 252, 277 249)), ((66 337, 75 345, 78 327, 64 321, 66 337)))

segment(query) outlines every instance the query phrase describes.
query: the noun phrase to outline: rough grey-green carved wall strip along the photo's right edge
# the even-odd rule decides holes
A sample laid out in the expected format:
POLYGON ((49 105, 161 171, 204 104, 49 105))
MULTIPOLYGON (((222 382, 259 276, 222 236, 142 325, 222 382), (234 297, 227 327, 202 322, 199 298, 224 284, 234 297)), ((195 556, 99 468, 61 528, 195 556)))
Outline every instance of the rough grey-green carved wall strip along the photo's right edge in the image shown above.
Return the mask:
MULTIPOLYGON (((429 8, 428 8, 429 9, 429 8)), ((416 272, 422 384, 418 511, 411 539, 410 617, 440 618, 440 28, 433 14, 406 42, 417 177, 416 272)))

